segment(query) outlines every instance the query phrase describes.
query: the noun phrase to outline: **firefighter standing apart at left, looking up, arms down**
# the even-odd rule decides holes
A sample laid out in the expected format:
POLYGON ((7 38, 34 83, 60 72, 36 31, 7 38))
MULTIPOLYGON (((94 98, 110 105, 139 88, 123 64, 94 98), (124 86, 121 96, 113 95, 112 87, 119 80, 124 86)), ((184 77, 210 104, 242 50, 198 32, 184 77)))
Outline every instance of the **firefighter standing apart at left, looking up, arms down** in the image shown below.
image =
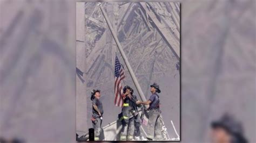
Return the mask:
POLYGON ((103 105, 100 101, 100 90, 91 91, 91 101, 92 101, 92 126, 95 132, 95 141, 99 140, 100 130, 102 128, 102 115, 103 115, 103 105))

